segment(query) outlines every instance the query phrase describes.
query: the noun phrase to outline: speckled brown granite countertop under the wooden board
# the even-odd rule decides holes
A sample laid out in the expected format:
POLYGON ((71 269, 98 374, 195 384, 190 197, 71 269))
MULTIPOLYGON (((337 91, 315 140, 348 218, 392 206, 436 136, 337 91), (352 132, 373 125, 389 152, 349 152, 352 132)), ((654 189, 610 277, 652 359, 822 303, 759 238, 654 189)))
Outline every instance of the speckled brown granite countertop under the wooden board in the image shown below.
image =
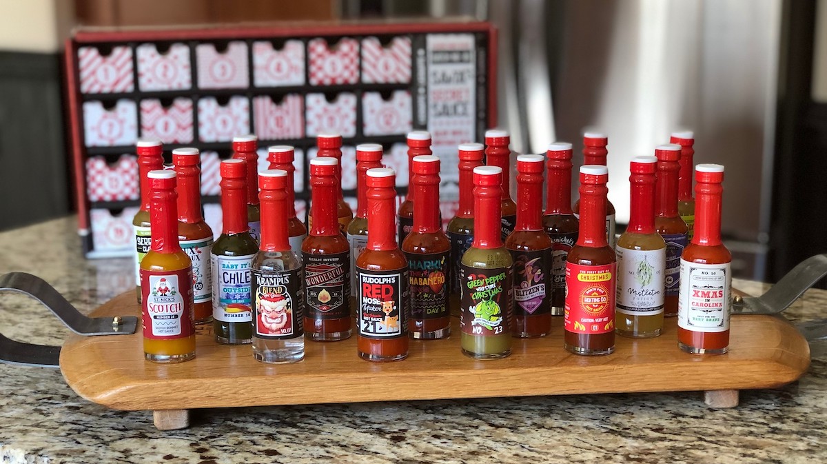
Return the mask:
MULTIPOLYGON (((130 259, 81 256, 74 217, 0 233, 0 273, 12 270, 84 312, 133 285, 130 259)), ((0 298, 0 332, 62 344, 68 330, 35 301, 0 298)), ((824 304, 810 290, 786 316, 823 317, 824 304)), ((742 391, 734 409, 697 392, 208 409, 172 432, 89 403, 57 369, 0 364, 0 462, 825 462, 827 343, 811 349, 801 380, 742 391)))

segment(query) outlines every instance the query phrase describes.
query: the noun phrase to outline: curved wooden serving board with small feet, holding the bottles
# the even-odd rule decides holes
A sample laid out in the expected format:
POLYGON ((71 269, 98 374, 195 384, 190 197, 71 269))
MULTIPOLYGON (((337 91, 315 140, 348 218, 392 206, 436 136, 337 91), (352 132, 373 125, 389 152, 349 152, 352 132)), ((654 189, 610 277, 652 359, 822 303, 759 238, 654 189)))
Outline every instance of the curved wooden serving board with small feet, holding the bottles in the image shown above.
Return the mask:
MULTIPOLYGON (((127 292, 93 316, 139 315, 127 292)), ((707 404, 732 407, 738 390, 774 388, 801 377, 810 347, 796 328, 772 316, 732 319, 729 353, 692 356, 676 343, 676 320, 661 337, 617 337, 609 356, 575 356, 563 349, 562 318, 552 334, 514 339, 511 356, 476 361, 460 352, 459 323, 446 340, 411 341, 408 359, 374 363, 356 355, 356 337, 343 342, 307 342, 304 361, 268 365, 253 359, 250 346, 213 341, 201 326, 197 356, 160 365, 143 358, 140 328, 115 337, 72 335, 60 353, 60 369, 78 395, 112 409, 152 410, 159 428, 189 424, 188 409, 239 406, 350 403, 361 401, 581 395, 647 391, 706 392, 707 404), (485 389, 480 389, 485 385, 485 389), (244 391, 238 395, 239 389, 244 391), (376 395, 376 391, 382 395, 376 395)))

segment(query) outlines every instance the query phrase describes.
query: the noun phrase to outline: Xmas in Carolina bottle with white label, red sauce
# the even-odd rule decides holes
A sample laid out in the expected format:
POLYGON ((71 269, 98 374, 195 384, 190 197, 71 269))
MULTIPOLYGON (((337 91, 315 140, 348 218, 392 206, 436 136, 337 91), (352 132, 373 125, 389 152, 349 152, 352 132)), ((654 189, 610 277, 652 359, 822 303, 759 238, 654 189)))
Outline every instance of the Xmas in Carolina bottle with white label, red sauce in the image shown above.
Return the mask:
POLYGON ((677 344, 688 353, 717 355, 729 350, 732 313, 732 255, 721 243, 724 166, 697 165, 695 176, 695 237, 681 256, 677 344))

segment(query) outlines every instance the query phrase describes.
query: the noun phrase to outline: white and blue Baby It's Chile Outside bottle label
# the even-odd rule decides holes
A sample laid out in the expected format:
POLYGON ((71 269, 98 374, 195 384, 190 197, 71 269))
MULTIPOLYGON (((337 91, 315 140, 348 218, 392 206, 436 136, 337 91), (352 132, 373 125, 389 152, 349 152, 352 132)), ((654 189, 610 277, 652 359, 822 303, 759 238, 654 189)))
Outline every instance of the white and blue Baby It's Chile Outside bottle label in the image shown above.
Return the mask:
POLYGON ((250 262, 253 256, 210 256, 214 319, 225 323, 252 320, 250 262))

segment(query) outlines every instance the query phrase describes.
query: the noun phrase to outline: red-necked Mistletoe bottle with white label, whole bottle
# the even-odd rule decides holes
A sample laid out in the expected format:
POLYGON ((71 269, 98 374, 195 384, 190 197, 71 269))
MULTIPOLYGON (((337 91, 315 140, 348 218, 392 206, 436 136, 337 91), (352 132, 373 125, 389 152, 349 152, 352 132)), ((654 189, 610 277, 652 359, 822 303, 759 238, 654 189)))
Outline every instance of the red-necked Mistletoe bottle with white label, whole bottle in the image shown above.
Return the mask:
POLYGON ((629 164, 629 227, 615 247, 616 332, 624 337, 657 337, 663 329, 667 245, 655 231, 656 165, 654 156, 637 156, 629 164))

